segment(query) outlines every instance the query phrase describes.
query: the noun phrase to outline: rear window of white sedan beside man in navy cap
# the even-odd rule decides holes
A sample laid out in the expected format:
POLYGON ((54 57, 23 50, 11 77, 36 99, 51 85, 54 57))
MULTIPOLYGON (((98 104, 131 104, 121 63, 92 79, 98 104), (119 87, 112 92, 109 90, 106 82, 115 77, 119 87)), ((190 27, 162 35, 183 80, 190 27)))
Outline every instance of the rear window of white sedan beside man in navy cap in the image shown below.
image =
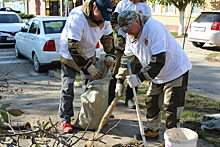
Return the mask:
POLYGON ((66 20, 44 21, 45 34, 61 33, 66 20))

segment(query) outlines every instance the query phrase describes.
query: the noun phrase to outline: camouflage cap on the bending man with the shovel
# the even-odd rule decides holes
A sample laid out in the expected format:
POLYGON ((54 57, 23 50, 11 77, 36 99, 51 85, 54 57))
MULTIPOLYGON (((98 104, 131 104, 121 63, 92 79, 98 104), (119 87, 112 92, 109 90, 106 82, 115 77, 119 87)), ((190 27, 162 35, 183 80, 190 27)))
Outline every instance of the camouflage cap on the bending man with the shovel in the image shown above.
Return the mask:
POLYGON ((129 27, 131 26, 133 20, 138 17, 138 13, 135 11, 123 11, 118 16, 119 32, 127 33, 129 27))

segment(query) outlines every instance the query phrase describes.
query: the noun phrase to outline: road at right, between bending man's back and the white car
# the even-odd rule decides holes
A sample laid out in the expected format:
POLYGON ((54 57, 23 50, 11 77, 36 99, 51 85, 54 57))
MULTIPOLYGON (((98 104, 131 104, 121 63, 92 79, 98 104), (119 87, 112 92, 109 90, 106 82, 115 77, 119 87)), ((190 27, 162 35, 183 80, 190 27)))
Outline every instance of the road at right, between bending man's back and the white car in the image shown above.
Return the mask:
MULTIPOLYGON (((183 39, 177 41, 182 45, 183 39)), ((220 53, 220 48, 210 45, 197 48, 186 40, 185 51, 193 65, 189 74, 189 91, 220 101, 220 63, 205 60, 211 53, 220 53)))

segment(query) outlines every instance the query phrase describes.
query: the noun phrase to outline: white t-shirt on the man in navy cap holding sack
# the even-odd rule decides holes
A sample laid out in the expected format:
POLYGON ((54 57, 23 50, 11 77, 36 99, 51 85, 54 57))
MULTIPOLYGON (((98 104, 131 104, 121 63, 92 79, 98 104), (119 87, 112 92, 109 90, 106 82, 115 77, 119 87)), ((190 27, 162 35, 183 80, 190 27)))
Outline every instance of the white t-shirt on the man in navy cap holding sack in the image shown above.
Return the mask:
POLYGON ((105 21, 104 26, 91 27, 82 12, 82 6, 74 8, 66 21, 60 37, 60 55, 66 59, 73 59, 68 50, 68 38, 77 40, 83 53, 89 58, 95 55, 95 48, 103 35, 112 33, 111 24, 105 21))

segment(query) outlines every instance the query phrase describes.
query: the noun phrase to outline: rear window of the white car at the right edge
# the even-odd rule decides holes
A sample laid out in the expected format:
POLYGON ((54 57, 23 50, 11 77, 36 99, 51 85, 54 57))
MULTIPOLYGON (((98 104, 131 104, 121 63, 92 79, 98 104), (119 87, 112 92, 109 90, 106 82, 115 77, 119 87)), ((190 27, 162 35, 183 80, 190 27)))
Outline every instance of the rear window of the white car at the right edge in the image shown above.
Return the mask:
POLYGON ((220 13, 202 13, 195 22, 220 22, 220 13))

